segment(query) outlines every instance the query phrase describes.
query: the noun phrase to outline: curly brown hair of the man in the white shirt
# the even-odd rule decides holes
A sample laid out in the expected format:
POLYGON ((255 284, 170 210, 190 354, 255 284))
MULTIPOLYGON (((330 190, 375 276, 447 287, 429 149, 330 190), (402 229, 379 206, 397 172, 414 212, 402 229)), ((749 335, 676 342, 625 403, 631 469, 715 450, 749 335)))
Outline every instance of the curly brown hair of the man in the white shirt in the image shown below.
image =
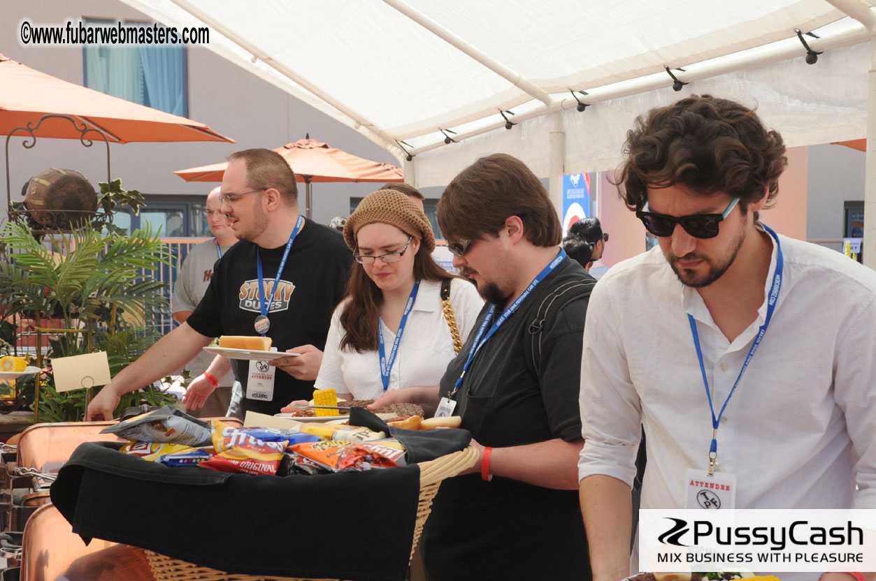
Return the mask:
POLYGON ((778 132, 767 131, 752 109, 711 95, 639 116, 626 134, 624 155, 611 183, 631 210, 645 207, 648 186, 730 193, 743 212, 767 195, 766 207, 772 207, 788 165, 778 132))

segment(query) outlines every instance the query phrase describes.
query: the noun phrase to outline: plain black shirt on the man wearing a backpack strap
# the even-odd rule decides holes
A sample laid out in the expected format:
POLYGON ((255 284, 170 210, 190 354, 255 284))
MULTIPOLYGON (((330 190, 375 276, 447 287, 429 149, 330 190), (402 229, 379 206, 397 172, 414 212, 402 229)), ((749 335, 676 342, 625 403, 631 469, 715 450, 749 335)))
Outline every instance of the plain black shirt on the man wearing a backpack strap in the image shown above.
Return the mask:
MULTIPOLYGON (((591 279, 566 259, 548 275, 471 362, 456 399, 462 427, 485 446, 581 437, 578 391, 587 298, 558 312, 542 334, 539 368, 527 363, 529 326, 562 283, 591 279)), ((463 370, 477 320, 441 381, 449 395, 463 370)), ((493 320, 501 314, 497 312, 493 320)), ((426 521, 423 558, 429 581, 444 579, 589 579, 590 560, 576 490, 553 490, 479 473, 442 482, 426 521)))

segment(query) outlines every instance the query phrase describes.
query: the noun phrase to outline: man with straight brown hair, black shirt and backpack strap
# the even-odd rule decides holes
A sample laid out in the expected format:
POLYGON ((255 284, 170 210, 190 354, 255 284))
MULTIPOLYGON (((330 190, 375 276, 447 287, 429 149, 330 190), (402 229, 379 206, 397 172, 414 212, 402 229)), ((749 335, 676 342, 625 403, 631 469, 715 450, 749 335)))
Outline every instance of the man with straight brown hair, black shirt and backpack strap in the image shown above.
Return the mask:
POLYGON ((462 416, 480 452, 434 499, 422 540, 427 578, 587 579, 577 395, 595 281, 559 248, 548 193, 511 156, 480 158, 457 175, 438 223, 454 266, 487 304, 438 386, 389 391, 374 403, 462 416))

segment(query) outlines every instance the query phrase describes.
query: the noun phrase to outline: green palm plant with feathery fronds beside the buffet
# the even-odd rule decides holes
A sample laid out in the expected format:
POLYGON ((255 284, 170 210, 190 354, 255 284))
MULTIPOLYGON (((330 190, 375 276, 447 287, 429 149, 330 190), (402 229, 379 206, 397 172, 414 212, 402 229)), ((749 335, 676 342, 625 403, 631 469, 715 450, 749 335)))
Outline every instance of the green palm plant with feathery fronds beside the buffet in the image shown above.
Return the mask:
MULTIPOLYGON (((31 228, 9 222, 0 229, 6 261, 0 261, 2 318, 18 314, 34 318, 38 332, 37 365, 42 367, 39 332, 60 332, 50 341, 51 355, 69 356, 106 351, 113 374, 137 359, 158 334, 155 317, 167 310, 161 295, 164 283, 147 273, 169 264, 166 246, 151 228, 131 235, 102 233, 90 224, 51 239, 50 246, 31 228), (128 316, 124 316, 127 313, 128 316), (41 321, 60 318, 63 329, 45 329, 41 321)), ((84 410, 85 390, 59 394, 53 377, 46 375, 43 417, 39 417, 39 389, 34 411, 45 421, 72 421, 84 410)), ((172 396, 147 388, 131 394, 120 407, 136 405, 144 396, 152 403, 172 396)))

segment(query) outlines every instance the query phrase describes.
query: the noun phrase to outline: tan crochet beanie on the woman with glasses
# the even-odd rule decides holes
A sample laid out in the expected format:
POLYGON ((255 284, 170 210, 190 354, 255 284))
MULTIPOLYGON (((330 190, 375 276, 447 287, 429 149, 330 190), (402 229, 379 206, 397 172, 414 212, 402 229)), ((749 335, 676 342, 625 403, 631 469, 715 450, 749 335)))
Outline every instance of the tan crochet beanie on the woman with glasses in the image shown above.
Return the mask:
POLYGON ((343 227, 343 238, 347 241, 347 246, 355 249, 359 228, 374 222, 390 224, 406 235, 419 238, 429 254, 435 248, 435 235, 426 214, 404 193, 378 190, 359 202, 356 212, 350 215, 343 227))

